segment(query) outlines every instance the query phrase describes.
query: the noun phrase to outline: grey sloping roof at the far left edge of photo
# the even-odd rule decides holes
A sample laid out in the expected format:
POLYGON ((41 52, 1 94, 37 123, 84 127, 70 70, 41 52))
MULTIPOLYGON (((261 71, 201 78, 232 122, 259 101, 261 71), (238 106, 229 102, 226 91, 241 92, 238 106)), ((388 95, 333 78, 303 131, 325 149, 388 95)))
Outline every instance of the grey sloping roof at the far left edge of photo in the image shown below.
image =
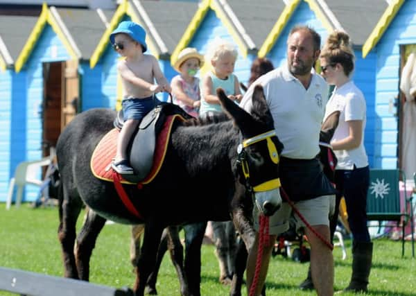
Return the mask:
POLYGON ((35 26, 37 17, 1 15, 0 69, 11 67, 35 26))

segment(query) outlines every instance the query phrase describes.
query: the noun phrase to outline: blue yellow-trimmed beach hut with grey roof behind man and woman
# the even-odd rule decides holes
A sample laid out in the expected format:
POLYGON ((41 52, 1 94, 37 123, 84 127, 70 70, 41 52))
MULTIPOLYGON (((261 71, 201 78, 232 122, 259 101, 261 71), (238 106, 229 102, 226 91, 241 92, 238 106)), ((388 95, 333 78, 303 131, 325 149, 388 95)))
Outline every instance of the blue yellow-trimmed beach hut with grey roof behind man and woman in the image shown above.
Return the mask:
POLYGON ((286 63, 286 41, 291 28, 297 24, 314 28, 320 33, 322 43, 333 30, 349 33, 356 55, 356 69, 353 79, 363 91, 367 101, 365 148, 370 166, 374 166, 376 57, 372 53, 363 58, 362 49, 365 40, 387 7, 387 2, 379 0, 293 0, 285 7, 259 50, 260 57, 270 58, 275 67, 279 67, 286 63))

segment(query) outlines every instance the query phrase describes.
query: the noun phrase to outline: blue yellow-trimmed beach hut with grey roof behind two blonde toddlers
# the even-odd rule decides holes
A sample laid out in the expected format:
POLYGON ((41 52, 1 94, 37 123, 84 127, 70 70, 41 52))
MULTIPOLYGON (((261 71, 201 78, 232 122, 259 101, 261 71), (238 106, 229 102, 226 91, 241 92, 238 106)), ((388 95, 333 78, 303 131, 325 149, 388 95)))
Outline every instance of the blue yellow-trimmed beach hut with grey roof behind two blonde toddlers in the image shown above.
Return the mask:
MULTIPOLYGON (((207 46, 215 37, 220 37, 228 42, 236 44, 239 52, 239 58, 236 60, 234 73, 242 82, 247 82, 250 73, 252 60, 257 57, 259 42, 254 43, 250 36, 249 29, 251 26, 259 24, 258 19, 250 15, 254 11, 262 11, 261 8, 270 8, 272 11, 278 11, 278 8, 268 3, 268 1, 218 1, 204 0, 200 2, 199 8, 191 19, 187 30, 177 43, 171 56, 171 63, 177 60, 177 55, 185 47, 195 47, 202 54, 207 51, 207 46), (243 11, 241 7, 248 8, 243 11)), ((266 11, 263 10, 263 11, 266 11)), ((269 13, 266 13, 270 17, 269 13)), ((266 18, 263 24, 267 28, 266 18)), ((270 28, 272 22, 270 22, 270 28)), ((254 30, 251 30, 254 32, 254 30)), ((261 33, 259 38, 261 38, 261 33)), ((263 33, 263 35, 266 35, 263 33)), ((256 39, 257 40, 257 39, 256 39)), ((207 71, 208 64, 202 69, 202 73, 207 71)))

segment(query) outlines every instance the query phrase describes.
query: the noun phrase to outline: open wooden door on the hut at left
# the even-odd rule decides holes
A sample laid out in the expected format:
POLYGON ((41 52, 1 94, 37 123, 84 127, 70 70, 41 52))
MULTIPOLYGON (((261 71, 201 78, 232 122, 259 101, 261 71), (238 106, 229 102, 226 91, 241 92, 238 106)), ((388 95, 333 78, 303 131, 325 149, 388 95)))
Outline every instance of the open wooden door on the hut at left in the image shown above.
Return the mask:
POLYGON ((63 65, 61 130, 73 119, 73 116, 80 109, 78 61, 67 60, 63 65))

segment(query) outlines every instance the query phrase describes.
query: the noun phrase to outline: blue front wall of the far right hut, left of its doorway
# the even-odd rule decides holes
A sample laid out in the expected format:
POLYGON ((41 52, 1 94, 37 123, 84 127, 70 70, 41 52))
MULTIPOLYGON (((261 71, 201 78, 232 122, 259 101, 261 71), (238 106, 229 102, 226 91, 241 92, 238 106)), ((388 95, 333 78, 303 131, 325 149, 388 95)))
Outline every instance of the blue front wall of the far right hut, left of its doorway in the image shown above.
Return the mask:
POLYGON ((416 0, 406 0, 372 53, 376 55, 374 160, 397 168, 398 119, 390 105, 399 94, 400 45, 416 44, 416 0))

